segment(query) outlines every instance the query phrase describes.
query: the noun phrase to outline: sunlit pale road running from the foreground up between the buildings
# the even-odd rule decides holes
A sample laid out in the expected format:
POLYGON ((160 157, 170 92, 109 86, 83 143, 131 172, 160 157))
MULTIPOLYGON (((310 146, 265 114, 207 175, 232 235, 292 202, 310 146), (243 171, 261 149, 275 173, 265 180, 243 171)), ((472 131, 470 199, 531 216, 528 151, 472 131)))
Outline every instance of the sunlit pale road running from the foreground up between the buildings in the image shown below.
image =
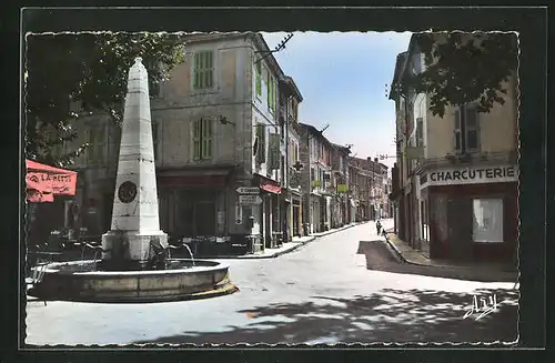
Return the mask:
POLYGON ((30 302, 26 342, 367 344, 516 339, 513 284, 380 271, 394 260, 384 262, 390 258, 380 244, 376 250, 360 243, 380 240, 374 233, 373 223, 367 223, 276 259, 225 260, 241 291, 212 300, 48 306, 30 302), (463 320, 473 293, 495 294, 497 310, 480 320, 463 320))

